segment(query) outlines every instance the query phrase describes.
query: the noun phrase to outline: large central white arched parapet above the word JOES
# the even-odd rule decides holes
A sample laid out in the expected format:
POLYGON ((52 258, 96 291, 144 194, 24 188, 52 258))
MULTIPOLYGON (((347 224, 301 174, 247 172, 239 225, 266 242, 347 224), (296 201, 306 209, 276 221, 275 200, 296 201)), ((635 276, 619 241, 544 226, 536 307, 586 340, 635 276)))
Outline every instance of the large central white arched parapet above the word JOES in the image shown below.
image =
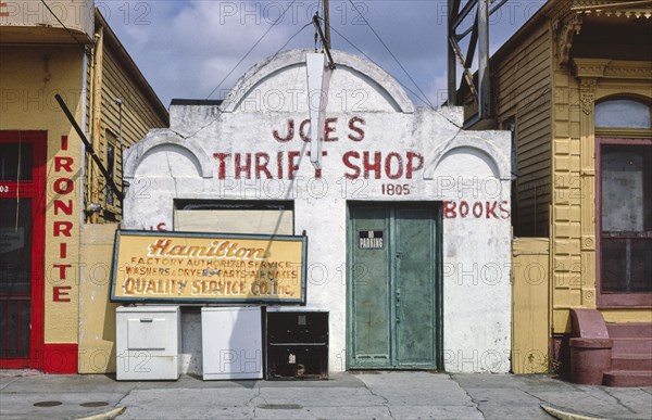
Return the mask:
MULTIPOLYGON (((264 102, 268 93, 274 93, 273 98, 255 110, 302 110, 306 106, 302 101, 308 98, 308 92, 304 91, 308 52, 311 51, 290 50, 259 62, 236 82, 222 104, 222 111, 225 113, 241 112, 247 110, 247 105, 252 102, 264 102), (292 73, 297 69, 300 72, 292 73), (269 82, 272 80, 274 82, 269 82), (278 91, 278 93, 273 91, 278 91), (291 103, 291 106, 283 110, 283 106, 276 107, 278 97, 287 104, 291 103)), ((338 76, 342 77, 340 85, 337 80, 331 81, 337 91, 329 96, 329 103, 339 105, 348 100, 350 104, 358 105, 364 111, 374 112, 387 109, 400 113, 414 113, 414 103, 389 73, 367 60, 343 51, 331 51, 331 55, 336 64, 333 79, 337 79, 338 76), (372 92, 373 98, 365 98, 365 92, 367 92, 366 94, 372 92)))

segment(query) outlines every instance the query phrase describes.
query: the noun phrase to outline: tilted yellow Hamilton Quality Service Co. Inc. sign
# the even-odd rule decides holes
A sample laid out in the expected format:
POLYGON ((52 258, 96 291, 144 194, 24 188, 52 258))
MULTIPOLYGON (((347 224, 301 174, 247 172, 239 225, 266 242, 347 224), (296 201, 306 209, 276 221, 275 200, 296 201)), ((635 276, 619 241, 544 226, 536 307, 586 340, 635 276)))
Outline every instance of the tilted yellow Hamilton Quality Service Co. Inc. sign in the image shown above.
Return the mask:
POLYGON ((308 238, 118 230, 113 302, 305 304, 308 238))

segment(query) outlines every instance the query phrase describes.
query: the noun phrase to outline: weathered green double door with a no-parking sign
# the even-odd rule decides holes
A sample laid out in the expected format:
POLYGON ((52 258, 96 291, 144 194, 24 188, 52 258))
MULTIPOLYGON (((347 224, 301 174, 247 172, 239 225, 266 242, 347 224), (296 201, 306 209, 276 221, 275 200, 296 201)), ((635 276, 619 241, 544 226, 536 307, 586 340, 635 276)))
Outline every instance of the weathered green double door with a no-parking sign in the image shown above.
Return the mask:
POLYGON ((428 206, 351 206, 349 368, 438 367, 436 219, 428 206))

